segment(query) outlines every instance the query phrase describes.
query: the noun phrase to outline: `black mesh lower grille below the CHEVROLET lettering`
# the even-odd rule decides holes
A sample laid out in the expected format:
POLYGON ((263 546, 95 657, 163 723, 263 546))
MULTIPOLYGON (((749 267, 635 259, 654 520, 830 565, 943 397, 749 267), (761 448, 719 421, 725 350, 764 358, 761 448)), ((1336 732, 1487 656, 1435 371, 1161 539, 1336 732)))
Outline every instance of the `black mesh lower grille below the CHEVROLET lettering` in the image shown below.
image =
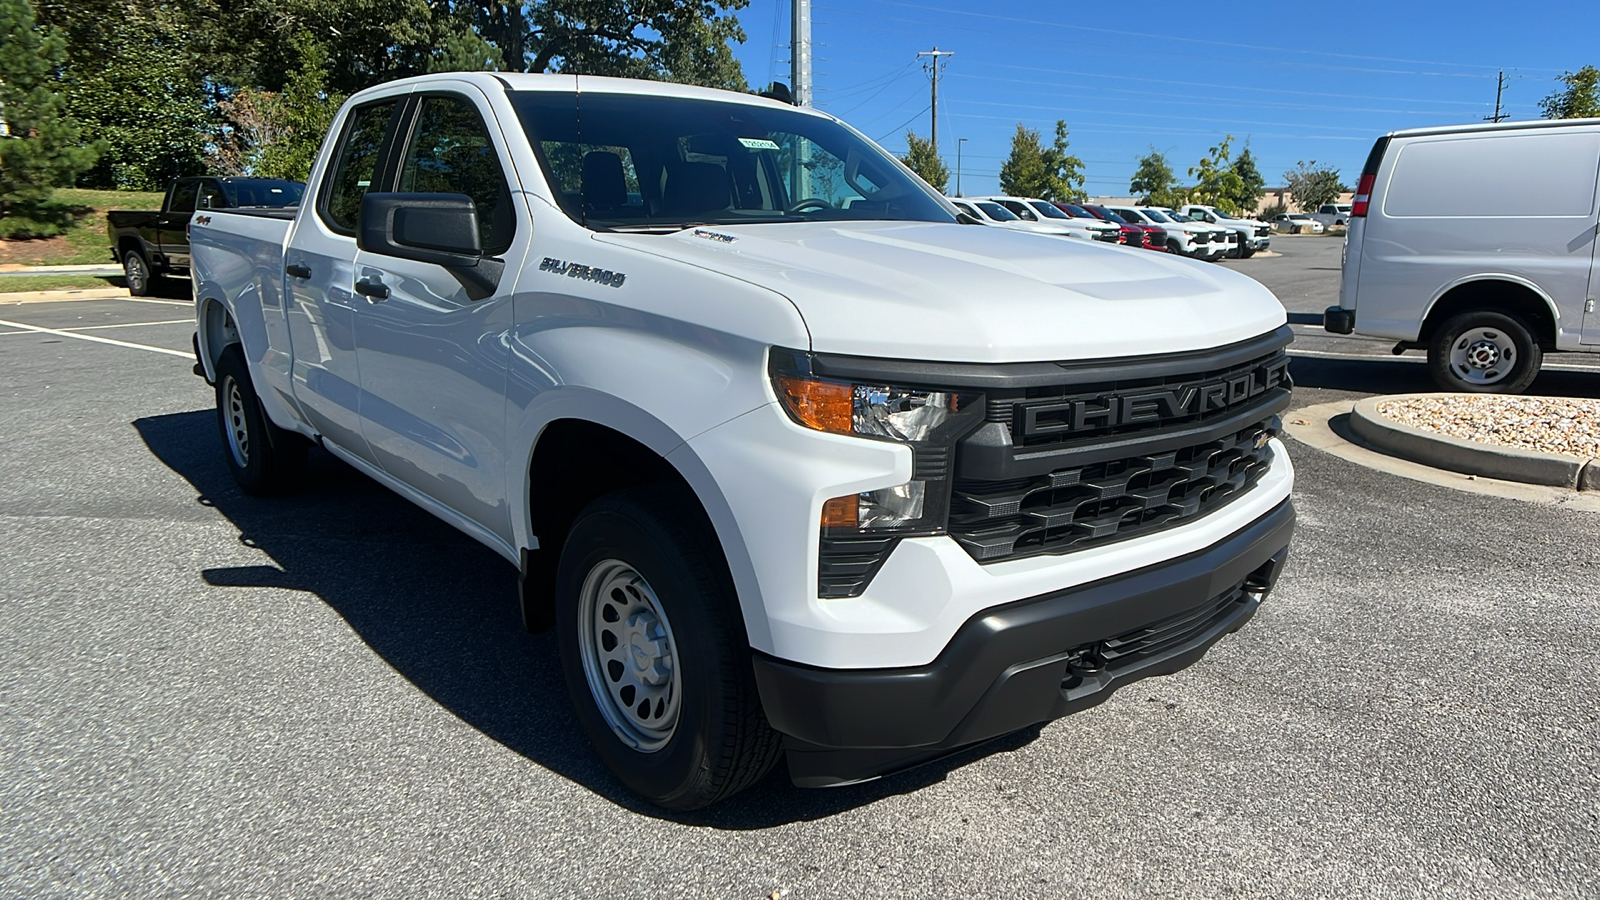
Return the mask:
POLYGON ((1216 440, 1026 479, 957 479, 950 536, 979 562, 1138 538, 1238 498, 1272 466, 1277 416, 1216 440))

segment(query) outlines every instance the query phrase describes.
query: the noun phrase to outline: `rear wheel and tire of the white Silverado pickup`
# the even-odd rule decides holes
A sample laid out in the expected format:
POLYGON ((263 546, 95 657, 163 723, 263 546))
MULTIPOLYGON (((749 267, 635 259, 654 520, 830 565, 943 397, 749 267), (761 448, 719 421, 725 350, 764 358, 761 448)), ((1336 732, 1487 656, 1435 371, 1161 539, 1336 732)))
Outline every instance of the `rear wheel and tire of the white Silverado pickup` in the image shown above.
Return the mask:
POLYGON ((245 493, 282 493, 304 474, 306 439, 267 418, 238 344, 216 360, 216 426, 222 456, 245 493))

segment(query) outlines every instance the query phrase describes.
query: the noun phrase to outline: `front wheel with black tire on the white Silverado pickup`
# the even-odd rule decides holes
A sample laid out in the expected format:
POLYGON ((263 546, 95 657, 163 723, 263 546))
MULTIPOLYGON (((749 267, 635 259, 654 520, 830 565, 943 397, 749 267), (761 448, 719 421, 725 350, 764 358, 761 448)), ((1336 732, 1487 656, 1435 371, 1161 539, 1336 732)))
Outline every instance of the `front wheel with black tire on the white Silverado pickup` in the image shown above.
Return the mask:
MULTIPOLYGON (((749 788, 771 770, 781 754, 779 735, 762 713, 733 580, 710 527, 693 524, 696 514, 691 496, 664 487, 646 485, 602 496, 573 524, 555 580, 555 636, 562 671, 589 743, 629 790, 675 810, 701 809, 749 788), (626 621, 616 618, 621 613, 611 604, 622 605, 624 612, 640 609, 640 591, 624 594, 605 589, 605 573, 614 572, 618 564, 638 577, 630 585, 642 586, 643 594, 656 602, 650 609, 662 613, 670 653, 654 658, 670 658, 674 674, 666 677, 682 679, 670 682, 682 687, 670 732, 661 727, 666 722, 645 721, 645 725, 661 729, 646 733, 662 741, 651 749, 640 749, 624 737, 638 733, 629 732, 629 722, 640 722, 640 717, 630 709, 635 695, 627 692, 632 689, 618 685, 637 673, 659 674, 659 668, 640 666, 637 673, 626 673, 619 663, 606 668, 616 660, 594 663, 594 653, 603 653, 598 647, 606 644, 608 626, 603 623, 618 621, 610 644, 614 647, 629 641, 629 653, 635 653, 632 637, 618 634, 648 617, 634 613, 626 621), (586 601, 586 591, 597 599, 586 601), (586 639, 584 628, 592 628, 597 636, 586 639), (587 641, 592 641, 589 649, 584 647, 587 641), (590 689, 590 677, 610 677, 611 684, 590 689), (626 700, 619 703, 613 692, 626 700), (624 713, 622 708, 629 709, 624 713), (624 721, 613 724, 608 714, 624 721)), ((627 658, 638 665, 640 655, 627 658)), ((648 717, 648 698, 642 706, 648 717)), ((654 714, 661 716, 659 703, 654 714)))

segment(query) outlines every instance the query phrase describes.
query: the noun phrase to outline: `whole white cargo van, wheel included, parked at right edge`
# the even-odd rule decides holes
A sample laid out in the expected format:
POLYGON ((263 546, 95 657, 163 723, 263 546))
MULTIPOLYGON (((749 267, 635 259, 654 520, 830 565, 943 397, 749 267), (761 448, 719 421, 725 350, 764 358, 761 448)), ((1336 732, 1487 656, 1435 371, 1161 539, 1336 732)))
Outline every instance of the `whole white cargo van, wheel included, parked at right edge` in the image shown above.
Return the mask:
POLYGON ((1600 119, 1379 138, 1323 325, 1426 348, 1445 391, 1515 394, 1546 352, 1600 352, 1597 183, 1600 119))

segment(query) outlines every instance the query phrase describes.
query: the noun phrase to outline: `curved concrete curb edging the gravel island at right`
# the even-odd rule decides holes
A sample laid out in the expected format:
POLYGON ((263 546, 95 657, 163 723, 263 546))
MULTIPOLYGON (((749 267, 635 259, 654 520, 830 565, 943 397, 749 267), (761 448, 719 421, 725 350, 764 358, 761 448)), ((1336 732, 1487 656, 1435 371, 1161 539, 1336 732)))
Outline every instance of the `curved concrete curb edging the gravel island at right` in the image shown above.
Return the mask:
POLYGON ((1413 394, 1392 394, 1357 402, 1350 412, 1350 431, 1373 447, 1426 466, 1523 484, 1600 490, 1600 460, 1462 440, 1379 415, 1378 404, 1410 396, 1413 394))

